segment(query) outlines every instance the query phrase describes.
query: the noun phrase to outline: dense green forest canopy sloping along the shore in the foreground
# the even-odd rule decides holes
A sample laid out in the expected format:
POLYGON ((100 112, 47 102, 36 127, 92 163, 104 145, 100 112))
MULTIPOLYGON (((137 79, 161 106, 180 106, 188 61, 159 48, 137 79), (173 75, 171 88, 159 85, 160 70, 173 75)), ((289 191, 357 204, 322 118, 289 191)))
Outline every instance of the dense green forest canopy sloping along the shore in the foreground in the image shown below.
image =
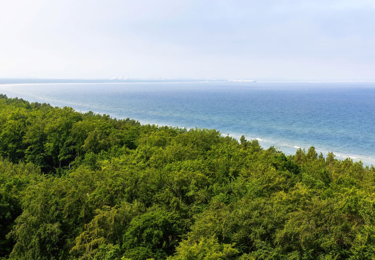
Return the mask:
POLYGON ((6 95, 0 107, 0 258, 375 258, 374 166, 6 95))

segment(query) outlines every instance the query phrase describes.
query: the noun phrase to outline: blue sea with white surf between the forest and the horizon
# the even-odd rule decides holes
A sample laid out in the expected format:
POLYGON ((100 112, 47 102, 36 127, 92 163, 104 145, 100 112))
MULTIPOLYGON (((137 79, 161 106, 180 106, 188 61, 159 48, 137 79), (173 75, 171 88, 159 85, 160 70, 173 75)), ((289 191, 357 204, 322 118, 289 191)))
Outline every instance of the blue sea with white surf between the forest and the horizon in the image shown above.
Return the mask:
POLYGON ((0 85, 30 102, 141 123, 215 128, 294 154, 315 146, 375 164, 375 83, 98 83, 0 85))

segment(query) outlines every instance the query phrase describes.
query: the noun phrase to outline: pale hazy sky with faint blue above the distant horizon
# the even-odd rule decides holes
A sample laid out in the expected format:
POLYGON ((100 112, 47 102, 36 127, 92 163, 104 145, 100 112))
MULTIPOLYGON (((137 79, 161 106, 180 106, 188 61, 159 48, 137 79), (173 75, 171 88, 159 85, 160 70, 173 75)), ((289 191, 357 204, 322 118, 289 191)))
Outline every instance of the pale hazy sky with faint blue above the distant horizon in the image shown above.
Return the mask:
POLYGON ((0 0, 0 77, 375 80, 375 0, 0 0))

